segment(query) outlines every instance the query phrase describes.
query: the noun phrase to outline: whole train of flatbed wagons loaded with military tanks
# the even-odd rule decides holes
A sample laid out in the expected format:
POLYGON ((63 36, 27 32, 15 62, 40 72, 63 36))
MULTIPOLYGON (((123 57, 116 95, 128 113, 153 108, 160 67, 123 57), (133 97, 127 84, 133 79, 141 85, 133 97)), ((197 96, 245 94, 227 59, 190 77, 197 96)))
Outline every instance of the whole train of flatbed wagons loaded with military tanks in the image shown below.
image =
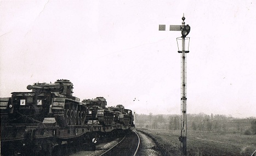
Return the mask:
POLYGON ((103 97, 80 101, 69 80, 34 83, 27 89, 32 92, 0 98, 1 155, 52 155, 64 143, 95 149, 101 138, 134 127, 132 110, 106 107, 103 97))

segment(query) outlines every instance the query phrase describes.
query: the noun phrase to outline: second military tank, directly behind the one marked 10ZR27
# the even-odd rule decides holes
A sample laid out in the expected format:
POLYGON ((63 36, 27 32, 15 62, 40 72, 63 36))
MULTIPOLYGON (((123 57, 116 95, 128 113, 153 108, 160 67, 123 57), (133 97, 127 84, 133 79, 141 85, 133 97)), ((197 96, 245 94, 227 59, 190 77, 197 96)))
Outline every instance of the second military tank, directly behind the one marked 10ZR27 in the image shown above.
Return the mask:
POLYGON ((87 106, 87 122, 92 124, 99 122, 103 125, 111 125, 113 123, 113 112, 107 109, 107 101, 104 97, 84 99, 82 103, 87 106))

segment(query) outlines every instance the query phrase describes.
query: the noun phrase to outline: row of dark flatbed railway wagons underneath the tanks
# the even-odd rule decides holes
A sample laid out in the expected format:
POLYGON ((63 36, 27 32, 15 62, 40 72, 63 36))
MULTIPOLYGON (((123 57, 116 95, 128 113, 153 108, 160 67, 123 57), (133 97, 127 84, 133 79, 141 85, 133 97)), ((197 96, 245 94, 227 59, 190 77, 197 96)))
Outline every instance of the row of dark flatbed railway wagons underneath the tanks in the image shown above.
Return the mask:
POLYGON ((15 155, 33 153, 50 155, 62 142, 87 143, 94 146, 103 137, 118 135, 130 129, 128 125, 70 125, 59 127, 55 123, 10 124, 1 127, 1 153, 15 155), (94 142, 93 142, 94 141, 94 142))

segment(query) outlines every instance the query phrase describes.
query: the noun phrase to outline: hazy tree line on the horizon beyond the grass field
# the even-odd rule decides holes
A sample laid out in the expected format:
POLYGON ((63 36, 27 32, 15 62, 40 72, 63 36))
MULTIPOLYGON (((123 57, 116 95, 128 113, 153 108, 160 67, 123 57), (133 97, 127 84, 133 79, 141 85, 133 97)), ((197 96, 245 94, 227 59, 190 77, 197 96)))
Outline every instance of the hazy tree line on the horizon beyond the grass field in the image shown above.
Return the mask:
MULTIPOLYGON (((136 114, 135 126, 146 129, 180 130, 180 115, 136 114)), ((256 134, 256 118, 234 118, 204 113, 187 115, 187 130, 256 134)))

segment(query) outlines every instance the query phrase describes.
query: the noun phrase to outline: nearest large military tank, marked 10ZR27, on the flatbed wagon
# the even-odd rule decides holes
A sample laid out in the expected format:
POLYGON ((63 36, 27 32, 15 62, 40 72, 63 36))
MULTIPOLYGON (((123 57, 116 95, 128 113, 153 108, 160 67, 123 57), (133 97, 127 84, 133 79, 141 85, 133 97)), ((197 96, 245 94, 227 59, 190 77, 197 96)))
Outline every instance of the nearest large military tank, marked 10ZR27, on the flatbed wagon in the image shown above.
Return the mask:
POLYGON ((69 80, 54 83, 34 83, 32 92, 13 92, 10 98, 1 98, 1 122, 38 123, 55 118, 60 126, 83 125, 86 106, 72 96, 73 84, 69 80))

